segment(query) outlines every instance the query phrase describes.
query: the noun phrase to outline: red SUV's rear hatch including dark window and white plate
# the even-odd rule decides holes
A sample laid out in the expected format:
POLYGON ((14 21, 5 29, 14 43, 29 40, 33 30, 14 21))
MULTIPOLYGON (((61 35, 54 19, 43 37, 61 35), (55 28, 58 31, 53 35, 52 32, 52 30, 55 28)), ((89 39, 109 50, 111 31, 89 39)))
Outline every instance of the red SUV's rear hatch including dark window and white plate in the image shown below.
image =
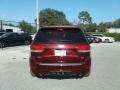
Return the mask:
POLYGON ((78 28, 42 28, 31 45, 41 63, 78 63, 89 56, 90 46, 78 28))

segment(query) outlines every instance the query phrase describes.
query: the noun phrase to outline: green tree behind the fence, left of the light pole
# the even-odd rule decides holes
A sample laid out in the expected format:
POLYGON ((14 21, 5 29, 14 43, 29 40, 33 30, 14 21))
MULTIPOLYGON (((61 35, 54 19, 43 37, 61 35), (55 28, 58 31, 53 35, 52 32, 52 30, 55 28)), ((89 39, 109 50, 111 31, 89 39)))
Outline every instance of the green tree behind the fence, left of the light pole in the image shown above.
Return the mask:
POLYGON ((35 33, 36 32, 35 27, 24 20, 22 22, 20 22, 18 26, 24 32, 28 32, 28 33, 35 33))

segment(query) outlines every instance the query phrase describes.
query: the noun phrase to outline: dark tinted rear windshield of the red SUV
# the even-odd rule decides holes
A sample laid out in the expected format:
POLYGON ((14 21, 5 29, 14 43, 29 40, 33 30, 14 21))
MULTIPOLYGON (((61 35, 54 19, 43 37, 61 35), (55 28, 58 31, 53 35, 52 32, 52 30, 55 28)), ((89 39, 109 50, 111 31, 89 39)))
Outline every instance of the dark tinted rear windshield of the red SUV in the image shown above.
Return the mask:
POLYGON ((86 42, 80 29, 66 28, 64 30, 42 28, 35 37, 35 42, 40 43, 80 43, 86 42))

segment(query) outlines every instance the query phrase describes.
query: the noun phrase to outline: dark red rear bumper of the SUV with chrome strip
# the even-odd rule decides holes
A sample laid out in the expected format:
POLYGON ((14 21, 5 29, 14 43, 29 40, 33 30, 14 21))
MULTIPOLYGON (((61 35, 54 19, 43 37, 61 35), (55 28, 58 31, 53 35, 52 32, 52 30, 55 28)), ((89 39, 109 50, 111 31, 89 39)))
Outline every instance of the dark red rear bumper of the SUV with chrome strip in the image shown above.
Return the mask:
POLYGON ((30 63, 30 69, 35 74, 86 74, 90 72, 91 63, 30 63))

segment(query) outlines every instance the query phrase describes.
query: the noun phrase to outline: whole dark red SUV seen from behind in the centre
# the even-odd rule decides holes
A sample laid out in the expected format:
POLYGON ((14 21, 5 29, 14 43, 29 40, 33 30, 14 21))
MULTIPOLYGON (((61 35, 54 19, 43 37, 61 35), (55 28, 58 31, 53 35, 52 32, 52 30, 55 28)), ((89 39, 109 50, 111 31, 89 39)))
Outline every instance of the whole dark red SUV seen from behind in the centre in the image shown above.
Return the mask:
POLYGON ((90 45, 79 27, 40 28, 31 44, 32 76, 89 76, 90 67, 90 45))

